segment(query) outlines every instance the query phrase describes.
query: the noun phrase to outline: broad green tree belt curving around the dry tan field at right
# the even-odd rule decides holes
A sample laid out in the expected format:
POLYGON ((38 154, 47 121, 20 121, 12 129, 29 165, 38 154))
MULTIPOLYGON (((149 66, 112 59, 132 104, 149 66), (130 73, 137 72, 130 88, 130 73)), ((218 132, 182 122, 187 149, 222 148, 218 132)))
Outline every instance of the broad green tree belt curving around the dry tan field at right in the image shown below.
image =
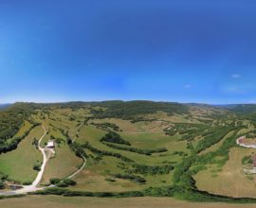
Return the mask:
POLYGON ((205 168, 205 165, 211 163, 221 163, 219 165, 224 165, 229 160, 229 149, 230 147, 236 146, 237 133, 241 130, 242 127, 236 127, 236 130, 231 127, 222 128, 217 130, 216 133, 212 132, 211 136, 208 135, 202 141, 202 144, 198 144, 201 151, 205 148, 211 147, 222 139, 229 131, 234 130, 232 135, 229 138, 225 139, 221 147, 215 151, 210 151, 205 154, 198 154, 200 151, 192 151, 190 157, 183 158, 183 161, 175 166, 174 169, 174 195, 179 196, 183 199, 191 199, 194 201, 239 201, 239 202, 248 202, 254 199, 233 199, 229 197, 223 197, 218 195, 213 195, 208 192, 200 191, 197 189, 195 182, 192 178, 194 174, 198 171, 205 168), (216 134, 219 135, 217 136, 216 134), (205 144, 203 142, 206 142, 205 144), (216 160, 216 158, 223 158, 221 161, 216 160))

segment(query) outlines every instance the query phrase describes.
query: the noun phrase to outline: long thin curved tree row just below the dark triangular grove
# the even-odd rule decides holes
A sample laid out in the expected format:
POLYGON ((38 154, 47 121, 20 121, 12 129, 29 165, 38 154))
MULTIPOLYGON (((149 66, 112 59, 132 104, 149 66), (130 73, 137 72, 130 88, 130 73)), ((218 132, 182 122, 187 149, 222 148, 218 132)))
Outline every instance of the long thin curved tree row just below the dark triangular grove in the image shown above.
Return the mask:
POLYGON ((117 146, 114 144, 108 144, 108 143, 103 143, 104 145, 120 150, 125 150, 125 151, 131 151, 131 152, 136 152, 138 154, 144 154, 144 155, 152 155, 153 153, 161 153, 161 152, 166 152, 168 151, 167 148, 161 147, 161 148, 155 148, 155 149, 141 149, 137 147, 124 147, 124 146, 117 146))

